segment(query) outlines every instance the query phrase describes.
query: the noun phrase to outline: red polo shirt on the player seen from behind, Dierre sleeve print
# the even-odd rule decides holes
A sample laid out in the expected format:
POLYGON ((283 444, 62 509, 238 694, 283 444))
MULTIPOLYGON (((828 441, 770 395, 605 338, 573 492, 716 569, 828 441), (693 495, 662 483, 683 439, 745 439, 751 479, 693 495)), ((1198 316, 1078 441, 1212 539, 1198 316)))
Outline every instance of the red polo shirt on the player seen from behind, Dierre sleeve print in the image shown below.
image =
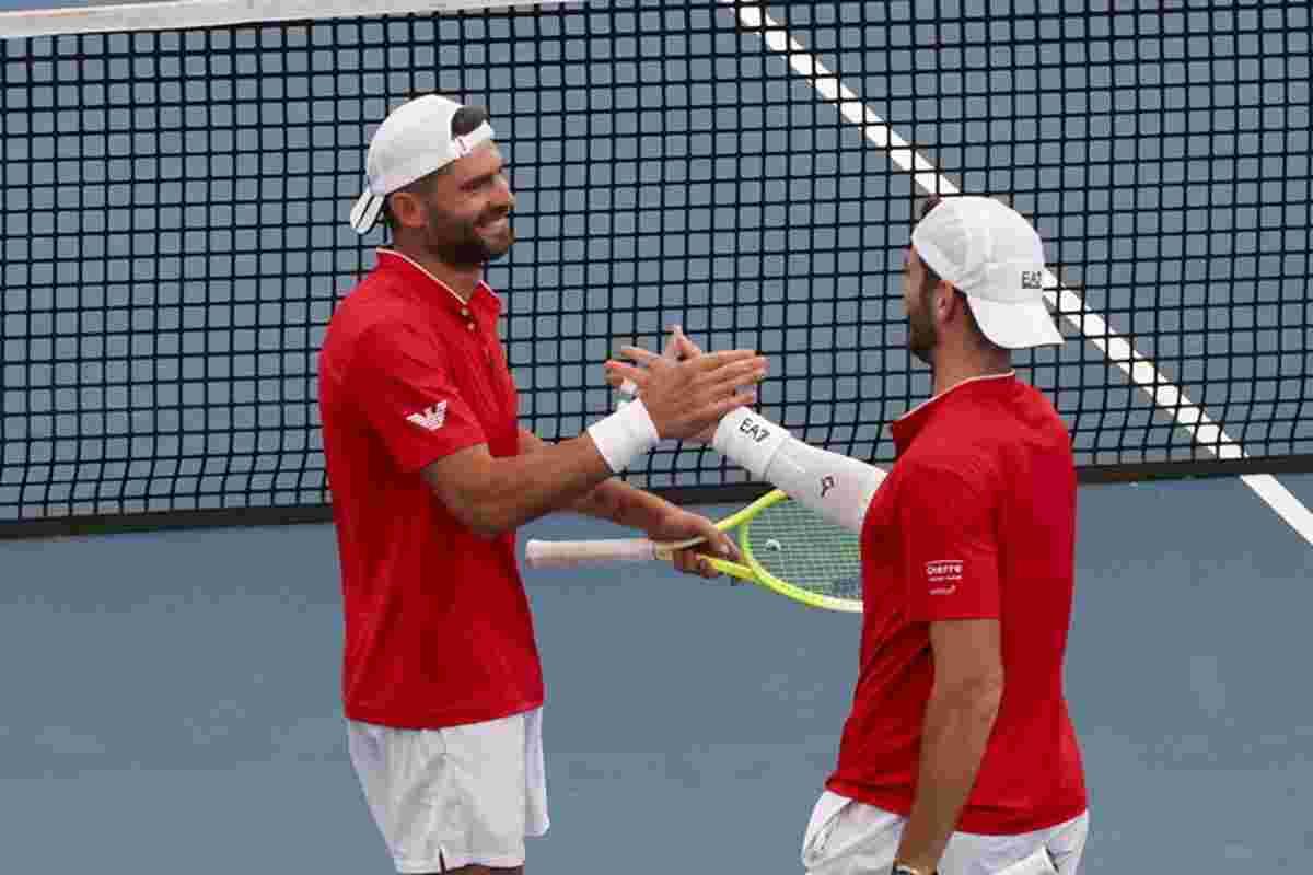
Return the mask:
POLYGON ((957 828, 1070 820, 1086 791, 1062 694, 1075 569, 1066 426, 1008 374, 960 383, 893 437, 898 459, 863 527, 861 669, 827 786, 906 816, 935 677, 930 623, 998 618, 1003 701, 957 828))

